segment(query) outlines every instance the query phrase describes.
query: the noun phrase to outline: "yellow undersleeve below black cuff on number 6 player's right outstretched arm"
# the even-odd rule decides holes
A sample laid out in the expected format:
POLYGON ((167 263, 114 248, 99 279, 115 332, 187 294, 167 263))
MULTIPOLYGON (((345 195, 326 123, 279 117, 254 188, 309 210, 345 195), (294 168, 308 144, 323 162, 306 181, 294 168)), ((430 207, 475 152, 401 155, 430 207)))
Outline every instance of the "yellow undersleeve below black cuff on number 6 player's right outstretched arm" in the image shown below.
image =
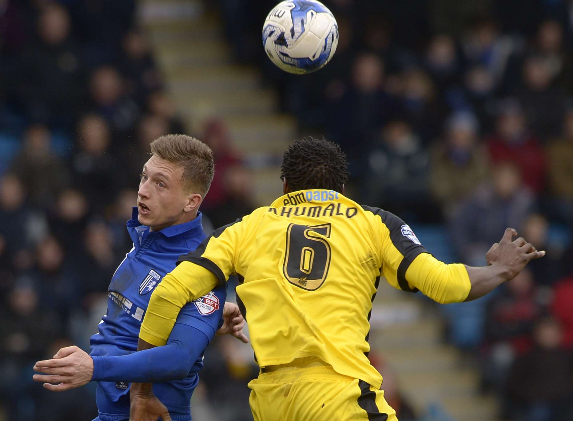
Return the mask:
POLYGON ((418 255, 410 263, 406 279, 422 294, 441 304, 464 301, 472 288, 463 264, 445 264, 429 253, 418 255))

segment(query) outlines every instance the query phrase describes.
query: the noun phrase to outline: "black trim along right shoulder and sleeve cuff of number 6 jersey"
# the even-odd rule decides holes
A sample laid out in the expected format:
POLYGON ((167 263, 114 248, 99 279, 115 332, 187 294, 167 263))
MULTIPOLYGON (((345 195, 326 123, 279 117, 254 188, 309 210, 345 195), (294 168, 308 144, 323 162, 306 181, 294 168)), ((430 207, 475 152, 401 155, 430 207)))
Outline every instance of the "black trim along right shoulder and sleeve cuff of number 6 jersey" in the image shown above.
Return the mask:
POLYGON ((394 244, 394 247, 396 247, 402 256, 404 256, 396 273, 398 286, 402 291, 406 291, 407 293, 417 293, 419 291, 417 288, 410 288, 406 279, 406 271, 418 255, 427 253, 428 251, 423 245, 414 243, 414 241, 402 234, 402 226, 406 225, 406 223, 394 215, 394 213, 364 205, 362 205, 362 209, 380 216, 382 223, 386 225, 388 231, 390 231, 390 240, 392 241, 392 244, 394 244))

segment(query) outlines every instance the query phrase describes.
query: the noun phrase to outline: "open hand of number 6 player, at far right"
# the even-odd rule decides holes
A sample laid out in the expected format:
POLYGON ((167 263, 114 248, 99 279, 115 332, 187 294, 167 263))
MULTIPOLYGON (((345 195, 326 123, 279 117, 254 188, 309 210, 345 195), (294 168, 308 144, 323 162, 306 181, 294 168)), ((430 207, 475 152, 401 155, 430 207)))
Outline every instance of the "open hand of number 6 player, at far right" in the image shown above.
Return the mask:
POLYGON ((493 244, 485 255, 489 266, 499 264, 506 269, 504 273, 507 280, 515 278, 529 260, 545 256, 545 251, 537 251, 533 244, 525 241, 523 237, 512 241, 516 235, 515 229, 507 228, 501 241, 493 244))

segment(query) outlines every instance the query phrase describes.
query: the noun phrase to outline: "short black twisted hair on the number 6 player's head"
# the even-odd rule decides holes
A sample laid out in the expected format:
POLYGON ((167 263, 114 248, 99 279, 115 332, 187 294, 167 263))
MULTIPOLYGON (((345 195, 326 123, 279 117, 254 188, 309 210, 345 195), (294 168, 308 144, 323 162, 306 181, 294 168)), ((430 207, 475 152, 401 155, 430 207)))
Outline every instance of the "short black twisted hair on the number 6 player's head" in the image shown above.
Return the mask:
POLYGON ((348 181, 346 154, 336 143, 306 137, 282 155, 281 178, 293 192, 325 189, 342 192, 348 181))

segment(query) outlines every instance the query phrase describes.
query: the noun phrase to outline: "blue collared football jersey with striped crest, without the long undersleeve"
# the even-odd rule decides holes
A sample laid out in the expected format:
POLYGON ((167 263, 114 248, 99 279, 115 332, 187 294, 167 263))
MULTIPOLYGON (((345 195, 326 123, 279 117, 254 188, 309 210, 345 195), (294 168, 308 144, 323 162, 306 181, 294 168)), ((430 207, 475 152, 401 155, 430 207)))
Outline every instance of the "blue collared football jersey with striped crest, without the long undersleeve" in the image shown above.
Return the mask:
MULTIPOLYGON (((139 223, 138 210, 134 208, 127 230, 134 247, 112 276, 107 314, 101 319, 99 332, 90 340, 92 356, 120 356, 137 350, 139 328, 152 291, 175 267, 179 256, 195 250, 205 239, 201 212, 193 221, 155 232, 139 223)), ((187 303, 179 313, 177 323, 201 330, 210 340, 222 325, 226 294, 226 285, 223 285, 197 301, 187 303)), ((202 360, 201 353, 185 379, 154 384, 155 395, 170 412, 189 414, 202 360)), ((129 414, 128 391, 129 383, 99 381, 96 401, 100 412, 129 414)))

